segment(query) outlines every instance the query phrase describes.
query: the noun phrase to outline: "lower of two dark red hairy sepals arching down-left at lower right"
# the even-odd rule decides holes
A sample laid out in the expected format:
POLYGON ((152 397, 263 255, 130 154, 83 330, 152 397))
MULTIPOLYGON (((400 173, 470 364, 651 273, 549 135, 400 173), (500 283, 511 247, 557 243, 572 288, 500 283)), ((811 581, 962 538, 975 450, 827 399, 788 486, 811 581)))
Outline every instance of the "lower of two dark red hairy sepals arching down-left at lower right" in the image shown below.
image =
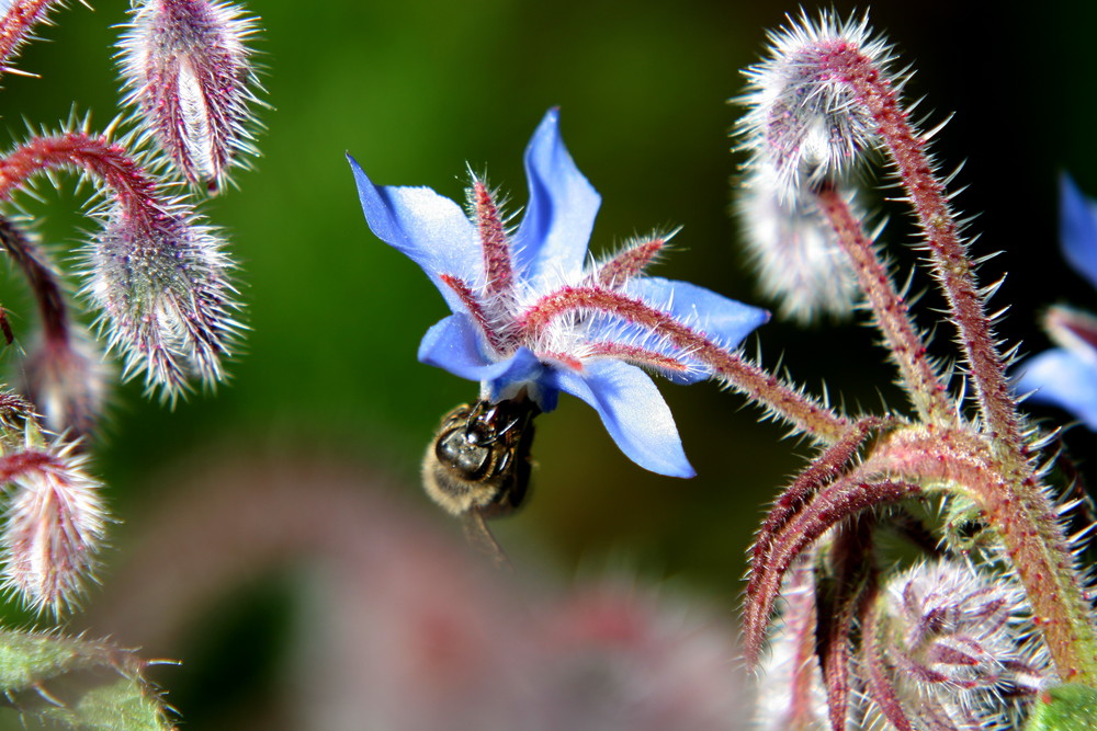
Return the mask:
POLYGON ((841 521, 923 492, 921 486, 914 482, 864 481, 867 477, 873 479, 871 473, 856 470, 836 480, 821 490, 777 535, 759 536, 759 540, 769 542, 771 548, 765 563, 751 566, 747 583, 743 654, 749 667, 758 664, 766 627, 781 592, 781 580, 796 557, 841 521))

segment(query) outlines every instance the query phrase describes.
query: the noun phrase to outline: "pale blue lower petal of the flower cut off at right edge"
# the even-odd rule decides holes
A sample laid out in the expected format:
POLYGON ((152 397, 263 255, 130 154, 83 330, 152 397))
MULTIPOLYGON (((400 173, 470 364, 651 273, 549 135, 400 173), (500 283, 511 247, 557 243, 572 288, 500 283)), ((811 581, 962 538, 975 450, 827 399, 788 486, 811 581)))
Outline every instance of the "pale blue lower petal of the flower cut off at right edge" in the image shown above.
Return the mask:
POLYGON ((1066 409, 1097 432, 1097 363, 1056 347, 1029 358, 1018 372, 1017 392, 1036 390, 1029 401, 1066 409))

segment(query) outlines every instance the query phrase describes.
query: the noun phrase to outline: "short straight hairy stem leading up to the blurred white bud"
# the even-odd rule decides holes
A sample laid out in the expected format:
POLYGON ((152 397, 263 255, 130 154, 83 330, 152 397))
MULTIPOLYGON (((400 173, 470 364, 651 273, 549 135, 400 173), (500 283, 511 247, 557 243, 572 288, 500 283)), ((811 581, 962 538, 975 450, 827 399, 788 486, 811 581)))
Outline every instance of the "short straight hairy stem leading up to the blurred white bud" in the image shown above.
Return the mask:
POLYGON ((824 186, 817 196, 819 209, 853 264, 858 284, 872 307, 875 324, 883 333, 887 352, 898 366, 904 390, 918 416, 935 424, 953 424, 955 410, 949 402, 945 382, 926 357, 926 343, 911 320, 909 308, 895 289, 861 222, 834 186, 824 186))

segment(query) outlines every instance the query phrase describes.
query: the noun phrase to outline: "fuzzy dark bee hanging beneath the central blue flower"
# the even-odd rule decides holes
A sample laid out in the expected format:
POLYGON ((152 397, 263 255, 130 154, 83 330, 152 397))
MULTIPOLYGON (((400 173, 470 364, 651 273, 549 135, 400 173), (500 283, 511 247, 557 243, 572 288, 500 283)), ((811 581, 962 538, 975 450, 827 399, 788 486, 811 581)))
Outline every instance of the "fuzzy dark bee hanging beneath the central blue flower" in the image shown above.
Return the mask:
POLYGON ((506 558, 485 519, 509 515, 525 500, 533 418, 539 413, 525 398, 464 403, 442 418, 422 460, 427 494, 464 518, 470 539, 499 564, 506 558))

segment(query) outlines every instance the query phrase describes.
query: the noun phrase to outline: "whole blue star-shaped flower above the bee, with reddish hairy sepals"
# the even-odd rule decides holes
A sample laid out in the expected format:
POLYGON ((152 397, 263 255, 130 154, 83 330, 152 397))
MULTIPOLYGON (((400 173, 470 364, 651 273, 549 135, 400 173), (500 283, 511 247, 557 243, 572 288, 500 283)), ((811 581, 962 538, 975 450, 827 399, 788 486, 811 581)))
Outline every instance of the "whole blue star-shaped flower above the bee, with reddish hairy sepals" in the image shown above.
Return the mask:
POLYGON ((350 158, 373 232, 419 264, 453 315, 433 325, 419 359, 480 382, 482 398, 524 393, 542 411, 559 391, 598 411, 641 467, 692 477, 674 418, 643 366, 678 382, 712 375, 700 340, 735 349, 769 315, 644 269, 665 236, 635 240, 593 262, 587 253, 601 202, 575 167, 550 110, 525 150, 530 199, 517 229, 473 178, 468 210, 427 187, 380 187, 350 158))

